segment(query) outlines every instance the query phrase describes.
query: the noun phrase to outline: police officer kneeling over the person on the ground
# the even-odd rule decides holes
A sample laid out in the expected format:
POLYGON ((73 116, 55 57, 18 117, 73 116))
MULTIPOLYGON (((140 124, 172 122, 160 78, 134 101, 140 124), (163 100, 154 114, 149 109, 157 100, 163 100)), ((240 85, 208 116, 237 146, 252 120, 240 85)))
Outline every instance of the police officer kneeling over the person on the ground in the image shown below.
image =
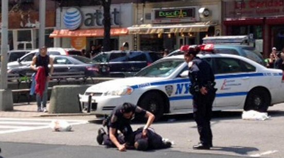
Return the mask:
POLYGON ((126 151, 127 144, 122 141, 117 131, 119 130, 123 134, 123 139, 126 143, 133 144, 133 130, 130 126, 130 121, 133 117, 146 117, 148 118, 146 125, 142 130, 143 137, 147 136, 147 129, 150 127, 155 119, 155 116, 132 103, 125 102, 120 106, 117 106, 111 113, 109 120, 105 122, 108 127, 109 135, 107 135, 103 128, 98 131, 97 142, 107 146, 115 146, 119 151, 126 151), (107 137, 106 137, 107 135, 107 137))

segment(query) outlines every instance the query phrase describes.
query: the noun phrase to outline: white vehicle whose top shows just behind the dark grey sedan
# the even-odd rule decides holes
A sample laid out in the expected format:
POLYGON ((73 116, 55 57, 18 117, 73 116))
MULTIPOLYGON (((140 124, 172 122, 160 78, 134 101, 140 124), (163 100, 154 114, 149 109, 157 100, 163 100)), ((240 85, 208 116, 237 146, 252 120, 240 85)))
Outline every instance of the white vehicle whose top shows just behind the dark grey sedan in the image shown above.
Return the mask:
MULTIPOLYGON (((8 70, 24 66, 30 65, 32 57, 36 54, 39 54, 39 49, 35 49, 30 51, 28 54, 24 55, 21 58, 18 58, 17 61, 9 62, 7 65, 8 70)), ((69 49, 69 48, 47 48, 48 55, 81 55, 81 51, 76 49, 69 49)))

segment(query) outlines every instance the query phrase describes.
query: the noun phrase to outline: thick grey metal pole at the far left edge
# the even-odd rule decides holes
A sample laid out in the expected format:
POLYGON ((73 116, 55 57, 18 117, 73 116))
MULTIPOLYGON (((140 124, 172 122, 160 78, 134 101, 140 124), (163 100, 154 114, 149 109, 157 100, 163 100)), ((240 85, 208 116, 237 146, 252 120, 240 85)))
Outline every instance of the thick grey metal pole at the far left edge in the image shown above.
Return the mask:
POLYGON ((1 87, 7 89, 7 62, 8 62, 8 1, 2 1, 1 23, 1 87))

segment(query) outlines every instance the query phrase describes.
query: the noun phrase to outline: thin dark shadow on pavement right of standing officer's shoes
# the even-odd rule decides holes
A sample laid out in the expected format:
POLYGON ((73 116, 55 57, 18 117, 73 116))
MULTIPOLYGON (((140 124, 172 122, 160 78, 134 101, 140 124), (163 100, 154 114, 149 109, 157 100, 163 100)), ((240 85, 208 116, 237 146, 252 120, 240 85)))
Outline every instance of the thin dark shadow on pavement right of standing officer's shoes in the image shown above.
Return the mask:
POLYGON ((232 147, 212 147, 210 150, 216 151, 226 151, 226 152, 234 152, 241 155, 247 155, 248 152, 259 151, 254 147, 241 147, 241 146, 232 146, 232 147))

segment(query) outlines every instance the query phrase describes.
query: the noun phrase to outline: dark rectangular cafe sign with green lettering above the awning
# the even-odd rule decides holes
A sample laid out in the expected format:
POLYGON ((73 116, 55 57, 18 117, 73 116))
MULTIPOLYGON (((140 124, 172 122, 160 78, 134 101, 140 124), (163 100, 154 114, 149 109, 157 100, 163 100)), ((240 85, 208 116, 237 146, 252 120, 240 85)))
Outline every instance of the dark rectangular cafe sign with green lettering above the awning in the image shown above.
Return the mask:
POLYGON ((176 23, 194 22, 196 19, 196 8, 174 8, 174 9, 153 9, 153 23, 176 23))

